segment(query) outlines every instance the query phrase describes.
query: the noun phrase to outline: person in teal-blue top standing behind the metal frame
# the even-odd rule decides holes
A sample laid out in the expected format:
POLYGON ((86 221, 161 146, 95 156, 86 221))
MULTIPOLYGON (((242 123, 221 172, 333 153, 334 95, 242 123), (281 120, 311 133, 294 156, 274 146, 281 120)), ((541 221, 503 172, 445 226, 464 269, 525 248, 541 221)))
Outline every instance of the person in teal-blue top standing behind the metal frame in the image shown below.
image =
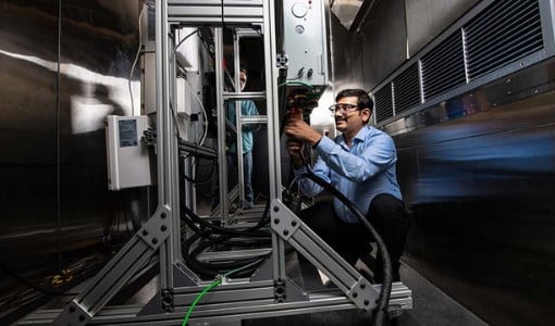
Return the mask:
MULTIPOLYGON (((245 89, 247 84, 247 71, 240 70, 239 72, 240 90, 245 89)), ((232 126, 237 126, 237 113, 235 110, 235 101, 227 101, 226 118, 232 126)), ((240 116, 258 115, 258 109, 252 100, 240 100, 240 116)), ((252 148, 254 148, 254 131, 260 128, 259 125, 244 124, 242 127, 242 143, 243 143, 243 174, 245 185, 245 200, 239 203, 243 209, 251 209, 255 202, 255 191, 252 190, 252 148)), ((236 137, 236 135, 232 136, 236 137)), ((235 138, 236 139, 236 138, 235 138)), ((237 147, 235 139, 231 139, 229 145, 229 164, 230 170, 237 166, 237 147)))

